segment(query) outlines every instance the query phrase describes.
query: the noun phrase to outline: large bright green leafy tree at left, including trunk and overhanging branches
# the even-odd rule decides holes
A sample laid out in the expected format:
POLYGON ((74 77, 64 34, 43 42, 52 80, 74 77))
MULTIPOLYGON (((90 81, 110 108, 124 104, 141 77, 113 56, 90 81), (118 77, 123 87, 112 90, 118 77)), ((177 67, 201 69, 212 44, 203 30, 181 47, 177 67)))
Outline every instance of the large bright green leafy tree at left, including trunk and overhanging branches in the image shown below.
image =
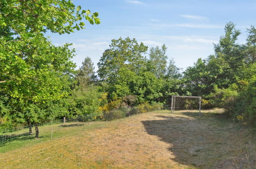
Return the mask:
POLYGON ((53 46, 43 33, 70 33, 85 27, 83 18, 100 20, 65 0, 1 1, 0 13, 0 92, 18 109, 12 118, 35 124, 38 138, 37 124, 54 116, 45 111, 47 103, 67 94, 75 66, 70 44, 53 46))

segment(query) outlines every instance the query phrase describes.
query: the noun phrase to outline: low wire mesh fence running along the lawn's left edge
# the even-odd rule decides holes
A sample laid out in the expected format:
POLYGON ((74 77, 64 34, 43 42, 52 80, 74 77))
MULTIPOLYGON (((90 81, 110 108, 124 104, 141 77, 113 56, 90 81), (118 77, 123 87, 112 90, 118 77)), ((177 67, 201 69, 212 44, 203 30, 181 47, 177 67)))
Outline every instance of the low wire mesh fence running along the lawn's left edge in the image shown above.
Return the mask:
POLYGON ((132 115, 146 113, 154 110, 170 110, 168 105, 144 106, 144 107, 126 107, 105 111, 101 113, 90 113, 75 118, 62 118, 47 123, 36 125, 25 125, 7 130, 0 130, 0 148, 8 144, 19 144, 19 141, 34 140, 51 140, 66 134, 85 130, 89 125, 102 125, 106 121, 126 118, 132 115), (74 128, 72 128, 74 127, 74 128))

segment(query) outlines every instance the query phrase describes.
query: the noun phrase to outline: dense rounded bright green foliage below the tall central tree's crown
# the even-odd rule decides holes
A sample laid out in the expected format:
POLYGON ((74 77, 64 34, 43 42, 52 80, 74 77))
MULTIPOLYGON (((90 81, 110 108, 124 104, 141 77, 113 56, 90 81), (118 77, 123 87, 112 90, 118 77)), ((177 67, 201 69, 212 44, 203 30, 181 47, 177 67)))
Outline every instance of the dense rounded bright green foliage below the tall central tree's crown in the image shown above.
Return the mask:
POLYGON ((136 96, 136 104, 154 102, 163 96, 163 83, 162 79, 151 72, 141 71, 136 74, 127 68, 121 68, 108 92, 110 99, 126 99, 133 95, 136 96))

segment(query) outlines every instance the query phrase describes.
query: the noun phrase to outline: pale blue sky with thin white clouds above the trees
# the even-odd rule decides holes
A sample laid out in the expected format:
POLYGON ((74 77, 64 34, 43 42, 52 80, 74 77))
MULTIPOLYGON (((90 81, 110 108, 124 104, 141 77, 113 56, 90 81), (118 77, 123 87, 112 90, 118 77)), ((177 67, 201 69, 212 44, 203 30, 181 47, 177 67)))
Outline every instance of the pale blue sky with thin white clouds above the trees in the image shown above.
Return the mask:
POLYGON ((86 24, 85 30, 72 34, 47 35, 53 44, 73 44, 77 67, 89 56, 96 70, 111 39, 129 36, 149 47, 165 44, 169 59, 174 58, 175 65, 185 69, 198 58, 213 54, 213 43, 218 43, 227 22, 232 21, 241 30, 240 44, 246 40, 246 28, 256 26, 255 0, 74 0, 73 3, 99 12, 101 24, 86 24))

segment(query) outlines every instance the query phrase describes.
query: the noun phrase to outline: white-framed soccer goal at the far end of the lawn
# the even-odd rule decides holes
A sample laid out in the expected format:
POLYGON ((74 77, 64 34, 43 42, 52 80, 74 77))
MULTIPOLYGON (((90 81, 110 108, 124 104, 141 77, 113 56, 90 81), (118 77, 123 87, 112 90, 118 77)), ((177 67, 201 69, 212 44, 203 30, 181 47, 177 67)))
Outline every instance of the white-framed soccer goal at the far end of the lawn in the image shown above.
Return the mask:
POLYGON ((201 115, 201 96, 171 96, 171 113, 175 110, 199 110, 201 115))

